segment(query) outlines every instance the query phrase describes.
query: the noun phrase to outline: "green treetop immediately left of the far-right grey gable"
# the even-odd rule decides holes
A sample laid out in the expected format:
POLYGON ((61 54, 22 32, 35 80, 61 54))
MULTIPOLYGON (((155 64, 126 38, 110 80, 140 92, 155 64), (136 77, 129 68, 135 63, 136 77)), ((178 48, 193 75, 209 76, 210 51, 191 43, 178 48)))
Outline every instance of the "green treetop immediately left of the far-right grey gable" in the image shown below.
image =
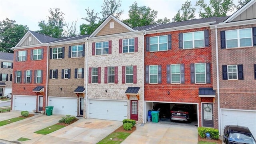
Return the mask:
POLYGON ((227 12, 234 10, 233 0, 210 0, 210 4, 204 3, 204 0, 198 0, 196 6, 199 6, 200 18, 209 18, 213 16, 226 16, 227 12))

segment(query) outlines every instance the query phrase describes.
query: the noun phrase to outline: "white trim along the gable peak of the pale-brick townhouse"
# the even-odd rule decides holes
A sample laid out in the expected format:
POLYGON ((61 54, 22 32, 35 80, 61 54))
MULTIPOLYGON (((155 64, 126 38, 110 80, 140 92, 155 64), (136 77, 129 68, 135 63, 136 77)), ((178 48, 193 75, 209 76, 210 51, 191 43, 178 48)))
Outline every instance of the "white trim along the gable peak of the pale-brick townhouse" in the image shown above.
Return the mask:
POLYGON ((108 18, 106 18, 106 20, 104 20, 104 22, 102 22, 102 24, 100 24, 100 26, 98 26, 98 28, 96 30, 94 30, 94 32, 89 36, 94 37, 98 34, 98 32, 100 32, 100 30, 102 30, 102 28, 104 28, 104 26, 106 26, 106 24, 108 24, 108 22, 110 20, 115 20, 116 22, 118 22, 120 25, 124 26, 126 29, 130 30, 130 32, 134 32, 135 30, 130 28, 129 26, 127 26, 126 24, 124 24, 122 21, 118 20, 116 17, 109 15, 108 18))

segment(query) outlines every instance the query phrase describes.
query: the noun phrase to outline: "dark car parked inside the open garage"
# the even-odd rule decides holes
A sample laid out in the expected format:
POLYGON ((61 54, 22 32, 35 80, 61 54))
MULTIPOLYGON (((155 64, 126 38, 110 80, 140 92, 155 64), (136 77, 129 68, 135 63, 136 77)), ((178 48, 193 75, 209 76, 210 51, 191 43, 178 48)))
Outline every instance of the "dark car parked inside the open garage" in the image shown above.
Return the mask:
POLYGON ((171 121, 191 122, 194 110, 190 104, 175 104, 171 110, 171 121))

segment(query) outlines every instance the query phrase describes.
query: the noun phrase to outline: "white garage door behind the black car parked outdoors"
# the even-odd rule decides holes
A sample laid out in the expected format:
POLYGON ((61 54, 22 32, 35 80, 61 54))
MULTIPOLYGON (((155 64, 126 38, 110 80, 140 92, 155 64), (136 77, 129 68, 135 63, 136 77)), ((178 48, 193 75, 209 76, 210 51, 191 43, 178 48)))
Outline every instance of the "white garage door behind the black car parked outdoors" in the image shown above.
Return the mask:
POLYGON ((246 126, 256 137, 256 111, 221 110, 221 135, 226 125, 246 126))

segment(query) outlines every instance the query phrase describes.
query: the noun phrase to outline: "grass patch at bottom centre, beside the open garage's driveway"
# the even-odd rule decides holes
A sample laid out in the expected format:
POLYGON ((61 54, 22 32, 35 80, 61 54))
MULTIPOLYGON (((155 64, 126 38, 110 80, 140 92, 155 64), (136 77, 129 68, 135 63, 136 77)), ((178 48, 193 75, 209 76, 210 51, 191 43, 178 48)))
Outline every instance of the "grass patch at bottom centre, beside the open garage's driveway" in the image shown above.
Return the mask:
POLYGON ((102 139, 97 144, 120 144, 129 135, 130 133, 128 132, 113 132, 112 134, 108 135, 106 138, 102 139))

